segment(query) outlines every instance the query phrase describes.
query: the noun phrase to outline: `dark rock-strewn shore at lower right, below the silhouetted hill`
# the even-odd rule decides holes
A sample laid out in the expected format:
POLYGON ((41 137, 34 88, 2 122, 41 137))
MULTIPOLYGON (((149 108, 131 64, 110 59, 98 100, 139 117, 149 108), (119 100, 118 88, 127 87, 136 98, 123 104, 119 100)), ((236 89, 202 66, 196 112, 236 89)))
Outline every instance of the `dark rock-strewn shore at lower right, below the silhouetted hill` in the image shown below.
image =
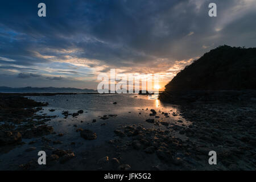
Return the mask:
MULTIPOLYGON (((255 170, 255 102, 194 102, 179 105, 192 124, 186 127, 155 121, 165 129, 123 126, 109 143, 133 163, 147 170, 255 170), (179 133, 176 137, 175 133, 179 133), (209 151, 217 152, 217 165, 209 165, 209 151), (135 153, 135 154, 134 154, 135 153), (146 164, 145 164, 146 165, 146 164)), ((183 122, 183 121, 178 121, 183 122)))

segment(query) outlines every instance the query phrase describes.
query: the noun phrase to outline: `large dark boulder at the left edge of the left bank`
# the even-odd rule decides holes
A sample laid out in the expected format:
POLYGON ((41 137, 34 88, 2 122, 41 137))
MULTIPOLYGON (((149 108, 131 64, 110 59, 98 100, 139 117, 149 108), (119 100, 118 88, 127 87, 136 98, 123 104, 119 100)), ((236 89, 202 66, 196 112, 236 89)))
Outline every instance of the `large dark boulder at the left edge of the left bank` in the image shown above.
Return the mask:
POLYGON ((0 146, 19 143, 21 140, 22 135, 19 132, 0 131, 0 146))

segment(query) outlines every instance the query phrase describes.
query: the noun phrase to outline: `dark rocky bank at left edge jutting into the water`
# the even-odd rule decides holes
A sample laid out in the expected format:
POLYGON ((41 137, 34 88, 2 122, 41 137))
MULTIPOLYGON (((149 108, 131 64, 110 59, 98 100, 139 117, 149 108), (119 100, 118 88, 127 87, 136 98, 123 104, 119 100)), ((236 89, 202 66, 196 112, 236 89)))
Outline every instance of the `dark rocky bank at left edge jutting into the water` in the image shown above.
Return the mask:
POLYGON ((35 102, 25 97, 0 95, 0 147, 22 144, 22 138, 40 137, 52 133, 52 127, 44 125, 50 118, 36 115, 47 103, 35 102))

